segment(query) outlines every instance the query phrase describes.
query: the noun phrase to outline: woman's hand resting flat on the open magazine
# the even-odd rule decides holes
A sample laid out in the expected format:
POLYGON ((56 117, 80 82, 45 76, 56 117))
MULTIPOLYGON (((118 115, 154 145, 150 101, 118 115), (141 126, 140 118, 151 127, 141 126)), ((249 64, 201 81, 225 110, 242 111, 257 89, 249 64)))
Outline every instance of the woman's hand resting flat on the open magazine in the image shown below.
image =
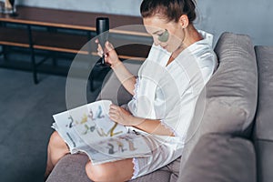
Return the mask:
POLYGON ((110 105, 109 116, 110 119, 112 119, 116 123, 124 126, 134 126, 134 123, 132 123, 132 118, 134 116, 132 116, 131 113, 129 113, 128 111, 126 111, 126 109, 120 106, 110 105))

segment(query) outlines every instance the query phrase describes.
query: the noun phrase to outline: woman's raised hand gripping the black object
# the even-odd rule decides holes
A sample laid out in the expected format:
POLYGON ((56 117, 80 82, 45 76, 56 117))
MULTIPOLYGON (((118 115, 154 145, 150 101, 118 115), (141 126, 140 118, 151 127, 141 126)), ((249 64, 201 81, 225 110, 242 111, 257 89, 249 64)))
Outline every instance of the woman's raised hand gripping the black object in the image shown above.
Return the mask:
POLYGON ((103 50, 102 46, 98 42, 98 39, 96 39, 95 42, 97 44, 97 49, 96 49, 97 55, 98 56, 105 55, 106 63, 110 64, 112 67, 117 66, 121 63, 121 61, 119 60, 116 54, 116 50, 111 43, 106 41, 105 50, 103 50))

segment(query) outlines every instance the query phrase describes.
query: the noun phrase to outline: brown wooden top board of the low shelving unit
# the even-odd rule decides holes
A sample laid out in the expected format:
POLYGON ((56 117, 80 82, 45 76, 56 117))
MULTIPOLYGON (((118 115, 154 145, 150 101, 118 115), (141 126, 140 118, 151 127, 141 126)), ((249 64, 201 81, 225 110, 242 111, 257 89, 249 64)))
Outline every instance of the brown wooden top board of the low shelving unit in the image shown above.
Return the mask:
POLYGON ((142 18, 131 15, 110 15, 102 13, 89 13, 80 11, 59 10, 41 7, 30 7, 19 5, 16 7, 17 16, 0 14, 0 21, 19 23, 25 25, 43 25, 51 27, 62 27, 78 30, 96 31, 96 17, 109 17, 110 32, 127 35, 147 35, 144 27, 136 30, 126 25, 143 25, 142 18), (119 27, 115 29, 116 27, 119 27), (113 30, 111 30, 113 29, 113 30))

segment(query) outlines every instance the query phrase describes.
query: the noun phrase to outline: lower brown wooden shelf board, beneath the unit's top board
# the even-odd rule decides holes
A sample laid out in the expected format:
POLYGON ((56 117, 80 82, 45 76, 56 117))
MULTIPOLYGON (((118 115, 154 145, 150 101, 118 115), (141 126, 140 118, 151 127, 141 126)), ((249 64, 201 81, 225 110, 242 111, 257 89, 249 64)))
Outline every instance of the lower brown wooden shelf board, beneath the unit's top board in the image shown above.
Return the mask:
MULTIPOLYGON (((85 35, 70 35, 64 33, 51 33, 46 31, 32 31, 33 47, 35 49, 65 52, 72 54, 89 54, 88 50, 81 50, 88 39, 85 35)), ((130 41, 110 39, 116 47, 116 52, 122 59, 144 60, 147 57, 150 46, 131 44, 130 41)), ((134 42, 133 42, 134 43, 134 42)), ((0 27, 0 44, 29 48, 29 40, 25 29, 0 27)), ((92 52, 96 55, 96 52, 92 52)))

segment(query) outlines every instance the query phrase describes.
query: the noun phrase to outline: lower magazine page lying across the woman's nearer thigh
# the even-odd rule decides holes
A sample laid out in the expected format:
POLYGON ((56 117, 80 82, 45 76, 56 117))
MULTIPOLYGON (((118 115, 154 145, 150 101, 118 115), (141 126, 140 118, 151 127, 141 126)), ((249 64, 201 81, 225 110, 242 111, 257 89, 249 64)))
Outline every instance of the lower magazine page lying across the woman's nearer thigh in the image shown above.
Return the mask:
POLYGON ((148 157, 152 154, 148 136, 127 133, 98 141, 92 147, 80 147, 93 164, 113 162, 125 158, 148 157))

